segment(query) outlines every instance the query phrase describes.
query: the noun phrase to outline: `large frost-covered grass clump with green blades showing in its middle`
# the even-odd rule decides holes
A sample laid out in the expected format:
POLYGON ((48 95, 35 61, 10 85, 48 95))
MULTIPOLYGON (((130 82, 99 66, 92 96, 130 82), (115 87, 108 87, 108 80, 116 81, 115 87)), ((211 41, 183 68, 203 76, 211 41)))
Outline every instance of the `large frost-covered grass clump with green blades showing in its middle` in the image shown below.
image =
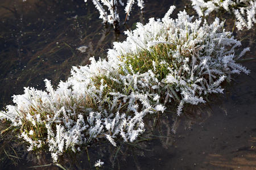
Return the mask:
POLYGON ((14 105, 0 112, 19 129, 28 150, 47 148, 54 162, 64 152, 102 138, 117 146, 117 139, 133 142, 144 131, 144 116, 163 113, 166 105, 205 103, 204 97, 222 93, 221 83, 231 74, 249 70, 235 60, 241 45, 216 18, 212 24, 174 6, 163 19, 151 18, 126 31, 127 39, 114 42, 107 59, 90 58, 90 65, 73 67, 66 82, 46 91, 24 88, 14 105))

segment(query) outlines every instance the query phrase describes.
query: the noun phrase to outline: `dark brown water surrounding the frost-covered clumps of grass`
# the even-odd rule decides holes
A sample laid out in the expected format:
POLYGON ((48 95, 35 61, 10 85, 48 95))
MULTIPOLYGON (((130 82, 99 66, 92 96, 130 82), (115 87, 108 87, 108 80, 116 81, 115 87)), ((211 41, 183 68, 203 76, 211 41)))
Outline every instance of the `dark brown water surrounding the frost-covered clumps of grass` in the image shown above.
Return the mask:
MULTIPOLYGON (((112 42, 125 40, 123 31, 134 29, 135 22, 162 18, 171 5, 176 5, 178 10, 187 6, 188 13, 195 14, 188 8, 188 0, 145 2, 144 18, 134 4, 130 20, 121 25, 121 34, 117 35, 112 27, 101 24, 91 1, 1 0, 0 110, 12 104, 11 96, 22 94, 23 87, 44 89, 45 78, 56 86, 60 80, 68 78, 72 66, 86 65, 92 56, 105 57, 112 42), (81 45, 88 47, 85 53, 77 50, 81 45)), ((125 15, 120 18, 123 21, 125 15)), ((232 28, 230 18, 226 29, 232 28)), ((237 39, 243 40, 243 46, 251 48, 245 58, 255 57, 255 27, 234 33, 237 39)), ((232 83, 225 84, 224 95, 213 96, 207 105, 187 108, 187 116, 181 118, 176 134, 171 131, 172 116, 166 113, 148 120, 148 130, 152 125, 155 129, 134 145, 115 148, 98 142, 81 154, 68 155, 61 164, 65 168, 90 169, 89 164, 101 159, 105 162, 104 169, 256 169, 256 61, 242 64, 251 70, 250 75, 235 75, 232 83)), ((1 139, 0 145, 9 144, 1 139)), ((24 159, 17 161, 11 156, 6 159, 5 151, 0 151, 0 169, 24 169, 51 163, 47 155, 35 159, 27 154, 19 155, 22 151, 16 152, 16 156, 24 159), (27 157, 35 162, 27 162, 27 157), (18 167, 11 159, 18 162, 18 167)), ((15 152, 12 153, 15 156, 15 152)))

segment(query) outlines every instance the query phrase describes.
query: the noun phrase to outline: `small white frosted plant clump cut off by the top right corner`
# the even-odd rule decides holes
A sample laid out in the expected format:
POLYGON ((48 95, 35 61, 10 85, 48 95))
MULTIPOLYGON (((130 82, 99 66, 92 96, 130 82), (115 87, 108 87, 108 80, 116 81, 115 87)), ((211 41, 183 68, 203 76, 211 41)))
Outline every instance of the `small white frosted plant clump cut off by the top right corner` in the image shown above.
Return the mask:
POLYGON ((212 11, 224 9, 236 16, 236 27, 251 29, 256 23, 256 1, 254 0, 191 0, 199 16, 207 16, 212 11))

